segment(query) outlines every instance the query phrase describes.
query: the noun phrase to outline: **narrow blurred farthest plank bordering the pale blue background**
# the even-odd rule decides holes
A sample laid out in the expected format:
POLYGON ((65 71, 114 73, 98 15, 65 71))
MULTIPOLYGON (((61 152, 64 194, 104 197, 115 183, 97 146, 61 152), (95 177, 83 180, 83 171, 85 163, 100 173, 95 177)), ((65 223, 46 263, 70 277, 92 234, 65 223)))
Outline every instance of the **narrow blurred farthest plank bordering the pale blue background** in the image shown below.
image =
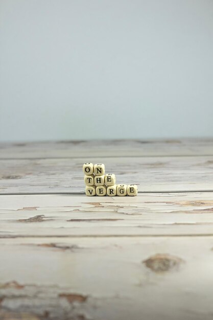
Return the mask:
POLYGON ((213 139, 1 143, 0 158, 213 155, 213 139))

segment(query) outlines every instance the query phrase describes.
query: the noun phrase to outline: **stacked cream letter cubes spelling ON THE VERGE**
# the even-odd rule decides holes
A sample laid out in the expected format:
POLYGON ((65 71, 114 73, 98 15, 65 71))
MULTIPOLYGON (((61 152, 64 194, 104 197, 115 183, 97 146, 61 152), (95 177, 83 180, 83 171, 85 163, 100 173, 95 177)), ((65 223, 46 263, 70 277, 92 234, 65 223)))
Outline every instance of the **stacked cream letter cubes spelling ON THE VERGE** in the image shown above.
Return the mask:
POLYGON ((86 163, 83 165, 84 182, 87 196, 136 196, 136 185, 115 185, 114 173, 105 174, 103 164, 93 165, 86 163))

